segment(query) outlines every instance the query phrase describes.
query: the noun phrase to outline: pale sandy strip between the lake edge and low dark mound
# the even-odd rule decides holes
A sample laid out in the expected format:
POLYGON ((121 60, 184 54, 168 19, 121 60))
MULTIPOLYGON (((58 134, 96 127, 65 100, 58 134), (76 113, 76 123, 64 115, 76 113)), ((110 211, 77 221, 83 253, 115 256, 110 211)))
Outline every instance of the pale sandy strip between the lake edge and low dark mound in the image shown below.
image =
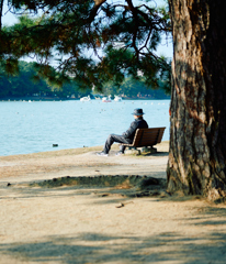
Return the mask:
POLYGON ((159 144, 157 154, 147 156, 115 156, 117 148, 114 145, 108 157, 95 155, 101 146, 0 157, 0 180, 21 183, 63 176, 124 174, 166 177, 168 142, 159 144))

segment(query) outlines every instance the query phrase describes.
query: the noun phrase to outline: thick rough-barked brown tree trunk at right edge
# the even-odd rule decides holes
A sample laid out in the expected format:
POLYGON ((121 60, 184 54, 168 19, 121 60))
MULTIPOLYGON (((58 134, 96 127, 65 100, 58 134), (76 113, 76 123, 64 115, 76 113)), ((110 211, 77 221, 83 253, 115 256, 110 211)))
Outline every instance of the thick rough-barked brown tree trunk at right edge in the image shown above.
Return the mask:
POLYGON ((168 189, 226 194, 226 0, 169 0, 172 98, 168 189))

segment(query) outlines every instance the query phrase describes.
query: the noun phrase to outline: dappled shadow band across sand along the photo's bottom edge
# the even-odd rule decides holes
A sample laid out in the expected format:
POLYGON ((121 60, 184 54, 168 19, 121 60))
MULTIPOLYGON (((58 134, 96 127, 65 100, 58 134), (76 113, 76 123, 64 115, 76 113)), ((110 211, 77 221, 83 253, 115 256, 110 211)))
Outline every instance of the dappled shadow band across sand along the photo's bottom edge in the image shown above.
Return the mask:
POLYGON ((45 238, 42 243, 1 244, 0 253, 37 263, 225 263, 226 234, 190 238, 177 233, 156 237, 80 233, 45 238), (216 258, 217 255, 217 258, 216 258))

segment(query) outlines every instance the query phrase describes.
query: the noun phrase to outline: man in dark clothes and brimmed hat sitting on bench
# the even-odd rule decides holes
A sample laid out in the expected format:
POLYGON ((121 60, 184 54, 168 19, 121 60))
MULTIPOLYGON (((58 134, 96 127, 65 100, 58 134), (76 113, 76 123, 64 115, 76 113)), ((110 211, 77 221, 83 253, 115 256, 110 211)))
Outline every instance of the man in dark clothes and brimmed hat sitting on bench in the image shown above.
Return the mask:
MULTIPOLYGON (((147 122, 143 119, 144 114, 143 109, 140 108, 134 109, 134 112, 132 114, 134 116, 135 120, 131 123, 128 130, 124 132, 122 135, 110 134, 109 138, 106 139, 103 151, 97 153, 98 156, 109 156, 109 152, 114 142, 132 144, 137 129, 148 129, 147 122)), ((124 154, 125 147, 126 147, 125 145, 121 145, 120 152, 117 152, 116 155, 124 154)))

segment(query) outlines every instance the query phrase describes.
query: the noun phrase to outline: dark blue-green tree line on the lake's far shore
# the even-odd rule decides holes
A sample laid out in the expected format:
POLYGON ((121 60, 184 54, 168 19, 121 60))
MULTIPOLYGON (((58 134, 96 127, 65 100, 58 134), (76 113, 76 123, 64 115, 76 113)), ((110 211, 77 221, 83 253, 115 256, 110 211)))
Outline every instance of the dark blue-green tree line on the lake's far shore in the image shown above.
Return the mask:
MULTIPOLYGON (((159 81, 158 89, 150 89, 145 86, 144 81, 135 80, 132 77, 125 78, 121 86, 114 86, 113 82, 106 82, 103 86, 103 95, 120 95, 124 98, 147 98, 165 99, 169 98, 163 90, 163 81, 159 81)), ((89 94, 97 95, 90 89, 84 90, 75 81, 67 81, 63 85, 52 84, 45 77, 39 77, 35 73, 35 63, 21 61, 18 74, 9 75, 0 66, 0 98, 80 98, 89 94)))

